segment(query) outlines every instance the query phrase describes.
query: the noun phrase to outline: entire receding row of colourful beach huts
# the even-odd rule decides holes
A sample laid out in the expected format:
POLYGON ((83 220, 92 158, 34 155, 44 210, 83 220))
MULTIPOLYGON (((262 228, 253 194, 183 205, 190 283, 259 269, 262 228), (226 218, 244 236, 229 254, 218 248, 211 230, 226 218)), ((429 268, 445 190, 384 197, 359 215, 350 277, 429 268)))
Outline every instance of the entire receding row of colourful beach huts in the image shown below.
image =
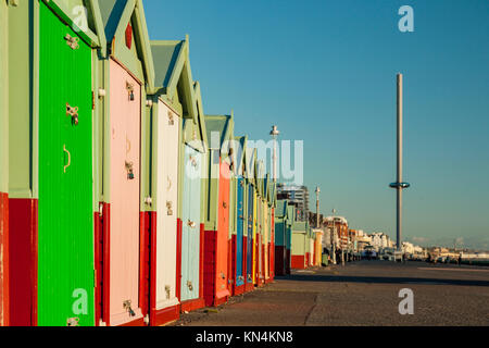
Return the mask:
POLYGON ((164 325, 321 264, 141 0, 1 1, 0 64, 0 325, 164 325))

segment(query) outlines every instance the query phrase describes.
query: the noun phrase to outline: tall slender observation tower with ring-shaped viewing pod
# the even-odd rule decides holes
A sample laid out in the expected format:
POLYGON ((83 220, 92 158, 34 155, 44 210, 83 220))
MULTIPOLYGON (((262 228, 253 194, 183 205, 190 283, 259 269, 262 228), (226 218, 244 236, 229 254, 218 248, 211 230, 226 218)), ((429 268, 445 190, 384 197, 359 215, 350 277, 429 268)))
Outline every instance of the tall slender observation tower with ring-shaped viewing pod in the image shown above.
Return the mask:
POLYGON ((402 190, 411 185, 402 181, 402 74, 398 74, 398 179, 389 185, 398 192, 397 247, 402 249, 402 190))

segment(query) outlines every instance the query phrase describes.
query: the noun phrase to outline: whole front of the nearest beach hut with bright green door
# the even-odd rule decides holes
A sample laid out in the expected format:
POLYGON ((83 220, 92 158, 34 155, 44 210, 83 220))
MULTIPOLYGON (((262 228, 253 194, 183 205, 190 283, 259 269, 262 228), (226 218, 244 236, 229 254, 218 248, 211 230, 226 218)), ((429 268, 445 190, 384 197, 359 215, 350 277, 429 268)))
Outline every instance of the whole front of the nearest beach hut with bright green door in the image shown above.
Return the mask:
POLYGON ((99 3, 1 5, 2 74, 9 62, 2 85, 9 94, 1 90, 8 102, 0 122, 9 136, 0 136, 0 191, 8 186, 10 194, 9 245, 2 253, 10 257, 2 270, 10 274, 9 308, 5 298, 2 302, 10 316, 3 320, 23 326, 93 325, 93 120, 103 116, 93 91, 101 84, 98 53, 105 48, 99 3))

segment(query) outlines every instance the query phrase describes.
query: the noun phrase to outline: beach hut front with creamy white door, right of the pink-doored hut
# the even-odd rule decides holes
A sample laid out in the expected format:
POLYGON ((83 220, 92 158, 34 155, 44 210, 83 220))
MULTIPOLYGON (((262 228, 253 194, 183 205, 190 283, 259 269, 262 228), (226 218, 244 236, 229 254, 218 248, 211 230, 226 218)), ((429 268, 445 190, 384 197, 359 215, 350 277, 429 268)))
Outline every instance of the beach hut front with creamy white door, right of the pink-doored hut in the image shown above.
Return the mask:
MULTIPOLYGON (((183 120, 199 124, 198 103, 189 61, 189 40, 151 41, 154 62, 154 90, 148 97, 147 116, 152 127, 145 142, 151 154, 148 171, 146 213, 149 226, 149 302, 150 325, 162 325, 178 319, 180 312, 181 254, 177 262, 178 236, 181 235, 181 190, 178 177, 183 120), (178 270, 177 270, 178 264, 178 270)), ((185 202, 187 203, 187 202, 185 202)), ((200 221, 199 221, 200 228, 200 221)), ((181 249, 181 247, 180 247, 181 249)), ((196 290, 199 290, 198 288, 196 290)))

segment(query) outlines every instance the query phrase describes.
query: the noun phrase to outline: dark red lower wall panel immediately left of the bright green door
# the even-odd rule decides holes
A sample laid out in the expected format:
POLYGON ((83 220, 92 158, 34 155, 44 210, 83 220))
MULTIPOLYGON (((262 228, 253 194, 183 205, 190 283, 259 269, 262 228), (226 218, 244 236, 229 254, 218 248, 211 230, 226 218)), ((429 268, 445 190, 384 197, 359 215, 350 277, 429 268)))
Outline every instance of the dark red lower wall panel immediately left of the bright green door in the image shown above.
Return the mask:
POLYGON ((37 325, 36 199, 9 200, 10 325, 37 325))

